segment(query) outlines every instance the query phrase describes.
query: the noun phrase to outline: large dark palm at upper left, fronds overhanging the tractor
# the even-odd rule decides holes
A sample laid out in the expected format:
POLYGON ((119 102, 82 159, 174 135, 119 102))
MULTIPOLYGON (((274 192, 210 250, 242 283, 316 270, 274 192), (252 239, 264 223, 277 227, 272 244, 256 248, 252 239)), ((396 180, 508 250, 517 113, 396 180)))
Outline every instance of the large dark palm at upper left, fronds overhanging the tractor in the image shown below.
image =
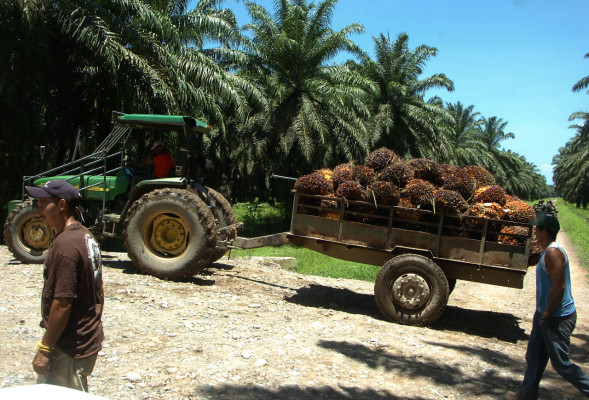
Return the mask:
MULTIPOLYGON (((186 2, 165 0, 1 2, 1 137, 19 133, 19 160, 52 143, 50 166, 68 156, 78 129, 100 140, 112 110, 186 113, 221 127, 227 116, 243 117, 260 92, 204 48, 240 41, 233 14, 219 4, 202 0, 187 12, 186 2)), ((0 159, 17 174, 39 171, 19 160, 0 159)))

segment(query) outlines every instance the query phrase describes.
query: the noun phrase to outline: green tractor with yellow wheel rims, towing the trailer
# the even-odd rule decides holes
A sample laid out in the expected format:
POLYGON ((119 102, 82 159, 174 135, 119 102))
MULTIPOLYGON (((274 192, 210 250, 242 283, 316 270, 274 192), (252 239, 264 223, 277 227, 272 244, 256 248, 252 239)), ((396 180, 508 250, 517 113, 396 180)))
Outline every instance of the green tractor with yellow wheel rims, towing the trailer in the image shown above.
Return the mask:
POLYGON ((26 198, 24 186, 60 179, 82 194, 84 225, 98 238, 124 238, 129 257, 142 273, 186 278, 221 258, 236 235, 235 215, 220 193, 202 185, 197 160, 210 127, 191 117, 118 112, 113 112, 112 124, 111 133, 91 154, 23 178, 22 199, 9 203, 4 224, 4 239, 14 257, 43 263, 53 231, 26 198), (125 145, 137 129, 179 135, 174 176, 131 187, 125 145))

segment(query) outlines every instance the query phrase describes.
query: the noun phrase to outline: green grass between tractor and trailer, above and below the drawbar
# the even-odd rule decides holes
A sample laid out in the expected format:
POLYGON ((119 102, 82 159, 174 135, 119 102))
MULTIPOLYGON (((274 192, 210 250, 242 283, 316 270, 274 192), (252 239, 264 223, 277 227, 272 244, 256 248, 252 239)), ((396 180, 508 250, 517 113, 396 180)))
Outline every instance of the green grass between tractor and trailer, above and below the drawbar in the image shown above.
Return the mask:
MULTIPOLYGON (((267 203, 238 203, 233 206, 235 218, 243 222, 239 236, 256 237, 286 232, 290 229, 291 210, 284 204, 271 206, 267 203)), ((303 247, 284 245, 259 249, 232 250, 236 257, 294 257, 297 272, 329 278, 358 279, 374 282, 380 267, 339 260, 303 247)))

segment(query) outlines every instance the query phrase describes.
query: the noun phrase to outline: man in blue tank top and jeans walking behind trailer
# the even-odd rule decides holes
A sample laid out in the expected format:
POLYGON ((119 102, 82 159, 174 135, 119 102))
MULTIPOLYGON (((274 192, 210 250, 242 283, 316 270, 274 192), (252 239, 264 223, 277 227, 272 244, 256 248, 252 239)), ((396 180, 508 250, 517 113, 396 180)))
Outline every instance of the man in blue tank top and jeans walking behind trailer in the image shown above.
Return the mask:
POLYGON ((544 249, 536 266, 536 313, 523 384, 517 394, 510 394, 507 399, 537 399, 548 360, 556 372, 589 397, 589 377, 569 360, 577 312, 571 294, 569 259, 556 241, 560 224, 552 215, 542 215, 532 224, 536 225, 538 244, 544 249))

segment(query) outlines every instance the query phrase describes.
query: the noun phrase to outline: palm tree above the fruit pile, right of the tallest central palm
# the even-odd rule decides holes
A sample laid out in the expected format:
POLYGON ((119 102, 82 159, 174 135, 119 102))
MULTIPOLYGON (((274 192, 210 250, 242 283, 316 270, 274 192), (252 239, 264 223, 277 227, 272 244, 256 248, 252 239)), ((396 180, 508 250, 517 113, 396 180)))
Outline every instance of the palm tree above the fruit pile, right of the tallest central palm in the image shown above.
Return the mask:
POLYGON ((350 65, 375 82, 372 95, 372 125, 376 146, 386 146, 402 156, 421 157, 435 153, 441 140, 439 123, 451 123, 450 114, 435 101, 425 101, 427 90, 454 85, 444 74, 420 80, 426 62, 437 49, 426 45, 409 49, 409 36, 401 33, 394 42, 380 35, 373 38, 376 58, 364 55, 350 65))

